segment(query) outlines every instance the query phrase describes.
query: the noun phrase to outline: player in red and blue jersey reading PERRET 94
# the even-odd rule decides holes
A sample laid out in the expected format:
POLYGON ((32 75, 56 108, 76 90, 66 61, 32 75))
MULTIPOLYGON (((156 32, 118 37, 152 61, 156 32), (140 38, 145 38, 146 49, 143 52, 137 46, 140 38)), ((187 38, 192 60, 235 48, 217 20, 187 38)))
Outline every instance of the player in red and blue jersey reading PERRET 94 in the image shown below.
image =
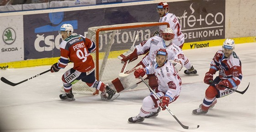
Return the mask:
POLYGON ((73 26, 70 24, 64 24, 60 27, 59 34, 63 39, 59 49, 60 58, 57 63, 51 66, 51 72, 58 72, 59 69, 68 65, 69 60, 74 63, 74 67, 66 71, 62 76, 65 93, 59 95, 60 99, 75 100, 72 93, 72 84, 82 80, 88 86, 101 91, 103 100, 114 100, 119 94, 95 78, 95 66, 90 53, 95 51, 96 45, 84 36, 72 35, 73 31, 73 26))

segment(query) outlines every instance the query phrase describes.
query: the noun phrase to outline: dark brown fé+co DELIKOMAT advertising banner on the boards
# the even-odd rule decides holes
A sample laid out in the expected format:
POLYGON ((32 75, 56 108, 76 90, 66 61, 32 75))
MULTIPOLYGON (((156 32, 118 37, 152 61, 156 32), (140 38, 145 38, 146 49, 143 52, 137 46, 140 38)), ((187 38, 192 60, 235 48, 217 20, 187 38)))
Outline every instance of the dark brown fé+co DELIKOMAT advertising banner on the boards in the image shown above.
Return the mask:
POLYGON ((225 38, 225 0, 189 0, 168 5, 169 13, 175 14, 180 21, 185 42, 225 38))

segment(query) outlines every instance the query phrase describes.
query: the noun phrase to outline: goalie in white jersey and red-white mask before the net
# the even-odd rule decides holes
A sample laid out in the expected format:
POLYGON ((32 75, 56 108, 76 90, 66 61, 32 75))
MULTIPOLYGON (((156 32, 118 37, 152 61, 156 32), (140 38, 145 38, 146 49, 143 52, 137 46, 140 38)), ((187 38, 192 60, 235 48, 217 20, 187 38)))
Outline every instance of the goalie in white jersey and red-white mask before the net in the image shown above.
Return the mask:
MULTIPOLYGON (((174 60, 172 61, 172 63, 175 65, 176 71, 180 71, 184 62, 184 55, 182 50, 178 46, 172 45, 172 40, 174 38, 173 30, 171 30, 170 28, 166 28, 162 34, 162 37, 154 36, 149 38, 149 40, 140 43, 138 46, 131 47, 129 51, 123 53, 118 57, 121 58, 121 61, 132 62, 136 60, 138 56, 146 54, 142 61, 140 61, 137 66, 135 66, 146 67, 150 66, 152 61, 155 59, 157 51, 160 48, 163 48, 166 49, 169 54, 167 60, 174 60)), ((149 86, 152 89, 158 87, 158 83, 154 74, 148 74, 146 79, 149 79, 149 86)), ((118 79, 115 79, 115 81, 112 81, 112 83, 114 84, 117 92, 121 92, 127 88, 125 86, 122 86, 123 82, 119 81, 118 79)))

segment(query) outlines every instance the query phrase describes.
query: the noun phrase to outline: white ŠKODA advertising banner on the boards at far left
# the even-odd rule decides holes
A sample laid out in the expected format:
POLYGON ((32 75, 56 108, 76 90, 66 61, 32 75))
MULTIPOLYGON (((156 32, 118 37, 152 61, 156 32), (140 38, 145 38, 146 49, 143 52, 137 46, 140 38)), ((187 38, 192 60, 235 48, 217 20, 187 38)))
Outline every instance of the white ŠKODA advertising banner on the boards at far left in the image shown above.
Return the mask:
POLYGON ((0 63, 24 60, 23 17, 0 18, 0 63))

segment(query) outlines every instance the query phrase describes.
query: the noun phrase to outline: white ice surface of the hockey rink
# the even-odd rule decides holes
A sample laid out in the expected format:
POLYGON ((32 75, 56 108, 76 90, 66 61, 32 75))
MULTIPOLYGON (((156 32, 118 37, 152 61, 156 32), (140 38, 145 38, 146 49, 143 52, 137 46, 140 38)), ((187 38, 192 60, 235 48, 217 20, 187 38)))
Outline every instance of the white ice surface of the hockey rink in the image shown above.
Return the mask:
MULTIPOLYGON (((218 99, 206 115, 192 115, 202 103, 208 85, 203 83, 210 61, 221 46, 184 50, 199 76, 186 76, 184 68, 181 95, 169 105, 171 112, 186 126, 183 129, 167 111, 142 123, 130 124, 142 101, 149 95, 142 82, 133 90, 120 93, 113 102, 100 96, 75 94, 75 101, 61 101, 61 76, 72 64, 57 73, 45 73, 17 86, 0 81, 0 132, 256 132, 256 43, 237 44, 235 52, 242 62, 243 79, 237 92, 218 99)), ((1 70, 0 76, 20 82, 46 71, 50 66, 1 70)), ((215 77, 215 76, 214 76, 215 77)))

